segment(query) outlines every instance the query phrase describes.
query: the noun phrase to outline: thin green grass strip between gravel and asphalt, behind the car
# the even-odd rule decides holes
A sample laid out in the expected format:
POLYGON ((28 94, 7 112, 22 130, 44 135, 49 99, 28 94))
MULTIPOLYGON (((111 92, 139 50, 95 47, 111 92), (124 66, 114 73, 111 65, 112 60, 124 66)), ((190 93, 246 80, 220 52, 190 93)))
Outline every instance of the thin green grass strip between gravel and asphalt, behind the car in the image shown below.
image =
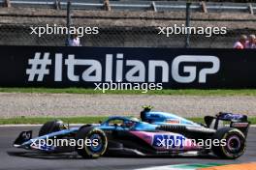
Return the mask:
MULTIPOLYGON (((16 118, 0 118, 0 125, 11 125, 11 124, 44 124, 47 121, 60 119, 65 123, 69 124, 92 124, 104 121, 108 116, 86 116, 86 117, 16 117, 16 118)), ((188 118, 191 121, 197 123, 204 123, 203 118, 188 118)), ((256 124, 256 117, 249 118, 251 124, 256 124)))

